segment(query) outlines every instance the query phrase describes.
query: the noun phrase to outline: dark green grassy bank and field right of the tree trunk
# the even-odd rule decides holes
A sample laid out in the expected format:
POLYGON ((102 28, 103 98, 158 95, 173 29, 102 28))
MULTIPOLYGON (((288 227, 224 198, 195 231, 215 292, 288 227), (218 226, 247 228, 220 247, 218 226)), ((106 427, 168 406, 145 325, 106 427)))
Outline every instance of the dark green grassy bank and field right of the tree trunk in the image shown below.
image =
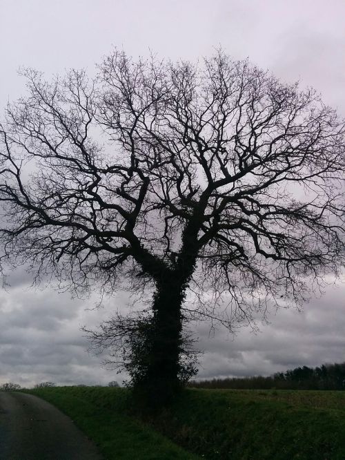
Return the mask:
POLYGON ((345 459, 345 392, 189 390, 152 423, 210 460, 345 459))

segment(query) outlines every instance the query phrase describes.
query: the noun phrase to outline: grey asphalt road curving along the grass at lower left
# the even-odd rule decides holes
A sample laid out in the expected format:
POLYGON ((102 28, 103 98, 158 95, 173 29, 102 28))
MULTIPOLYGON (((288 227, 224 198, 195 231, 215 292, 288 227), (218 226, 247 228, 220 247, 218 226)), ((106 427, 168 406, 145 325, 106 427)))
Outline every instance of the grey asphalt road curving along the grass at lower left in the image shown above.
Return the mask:
POLYGON ((1 460, 100 460, 72 420, 32 394, 0 392, 1 460))

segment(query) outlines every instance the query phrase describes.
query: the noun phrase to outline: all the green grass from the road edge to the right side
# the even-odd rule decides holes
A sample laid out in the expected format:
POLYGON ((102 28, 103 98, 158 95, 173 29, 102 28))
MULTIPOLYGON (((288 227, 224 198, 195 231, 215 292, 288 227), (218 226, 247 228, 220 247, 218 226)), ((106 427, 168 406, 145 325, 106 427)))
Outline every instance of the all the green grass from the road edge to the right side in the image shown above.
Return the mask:
POLYGON ((194 452, 210 460, 345 460, 345 392, 189 389, 145 424, 128 415, 126 390, 33 393, 69 414, 107 459, 196 459, 194 452))

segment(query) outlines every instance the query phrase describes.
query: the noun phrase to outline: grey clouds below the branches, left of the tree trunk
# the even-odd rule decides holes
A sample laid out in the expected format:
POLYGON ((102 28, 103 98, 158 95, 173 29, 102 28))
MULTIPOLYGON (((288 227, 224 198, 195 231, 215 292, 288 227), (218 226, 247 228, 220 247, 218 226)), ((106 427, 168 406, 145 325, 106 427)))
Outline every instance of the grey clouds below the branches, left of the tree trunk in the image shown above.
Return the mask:
POLYGON ((86 312, 86 306, 50 290, 2 291, 0 380, 106 383, 110 377, 99 369, 100 359, 86 352, 88 342, 80 331, 87 318, 98 324, 105 312, 86 312))

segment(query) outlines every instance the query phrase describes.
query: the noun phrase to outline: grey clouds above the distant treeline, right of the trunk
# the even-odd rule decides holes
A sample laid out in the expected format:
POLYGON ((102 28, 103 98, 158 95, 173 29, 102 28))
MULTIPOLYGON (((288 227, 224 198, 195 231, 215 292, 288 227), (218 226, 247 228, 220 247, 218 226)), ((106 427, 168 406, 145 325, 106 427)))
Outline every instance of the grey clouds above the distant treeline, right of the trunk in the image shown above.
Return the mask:
POLYGON ((328 287, 325 296, 311 300, 304 312, 281 309, 270 315, 257 334, 242 329, 232 340, 225 331, 208 338, 199 328, 199 378, 270 375, 299 365, 344 362, 344 287, 328 287))

